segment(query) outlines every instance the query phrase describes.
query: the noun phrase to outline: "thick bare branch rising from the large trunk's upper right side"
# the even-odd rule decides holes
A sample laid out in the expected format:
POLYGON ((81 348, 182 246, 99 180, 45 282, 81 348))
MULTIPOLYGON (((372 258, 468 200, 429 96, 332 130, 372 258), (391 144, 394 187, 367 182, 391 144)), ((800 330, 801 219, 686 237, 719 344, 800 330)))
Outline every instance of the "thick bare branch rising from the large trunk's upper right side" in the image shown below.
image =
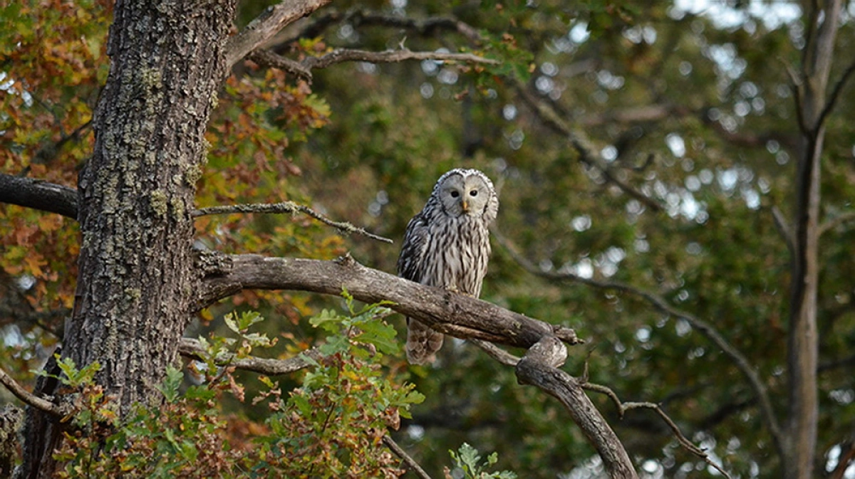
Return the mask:
POLYGON ((267 43, 285 26, 310 15, 316 9, 320 9, 330 2, 331 0, 299 0, 271 5, 241 32, 228 39, 226 44, 227 70, 246 55, 249 55, 252 50, 256 50, 262 44, 267 43))

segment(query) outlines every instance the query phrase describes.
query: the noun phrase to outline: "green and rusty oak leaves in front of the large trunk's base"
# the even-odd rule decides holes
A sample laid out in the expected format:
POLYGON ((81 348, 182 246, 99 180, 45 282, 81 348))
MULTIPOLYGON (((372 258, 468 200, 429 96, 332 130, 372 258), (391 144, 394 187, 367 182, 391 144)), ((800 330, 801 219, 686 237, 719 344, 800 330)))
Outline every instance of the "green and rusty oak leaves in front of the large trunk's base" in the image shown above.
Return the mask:
POLYGON ((333 331, 320 359, 307 359, 311 371, 303 384, 282 397, 279 384, 260 377, 266 388, 253 399, 266 401, 270 414, 251 442, 229 440, 229 421, 221 395, 244 399, 234 369, 221 365, 224 354, 245 358, 270 348, 267 336, 251 332, 263 318, 254 312, 230 314, 226 324, 238 338, 212 337, 203 342, 204 384, 182 393, 184 373, 170 368, 159 387, 162 404, 139 406, 120 420, 115 405, 93 383, 99 365, 78 370, 70 359, 57 377, 79 391, 74 420, 54 458, 62 477, 398 477, 399 459, 383 444, 386 429, 397 429, 409 408, 422 402, 412 384, 398 385, 380 364, 398 351, 395 331, 383 321, 389 310, 368 305, 358 311, 346 295, 350 315, 331 311, 313 324, 333 331), (218 365, 219 364, 219 365, 218 365))

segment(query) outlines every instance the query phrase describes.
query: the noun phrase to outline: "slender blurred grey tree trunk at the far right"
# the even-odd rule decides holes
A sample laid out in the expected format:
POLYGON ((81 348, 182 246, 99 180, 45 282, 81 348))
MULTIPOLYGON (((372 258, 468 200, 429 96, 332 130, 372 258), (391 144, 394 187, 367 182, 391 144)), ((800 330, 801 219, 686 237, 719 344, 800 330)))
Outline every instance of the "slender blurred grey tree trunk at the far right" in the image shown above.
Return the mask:
POLYGON ((834 59, 834 39, 840 21, 841 0, 814 5, 807 15, 811 25, 803 52, 800 99, 799 161, 796 165, 793 221, 792 285, 787 342, 789 408, 783 459, 784 477, 813 476, 817 449, 817 289, 819 283, 820 170, 825 127, 828 77, 834 59))

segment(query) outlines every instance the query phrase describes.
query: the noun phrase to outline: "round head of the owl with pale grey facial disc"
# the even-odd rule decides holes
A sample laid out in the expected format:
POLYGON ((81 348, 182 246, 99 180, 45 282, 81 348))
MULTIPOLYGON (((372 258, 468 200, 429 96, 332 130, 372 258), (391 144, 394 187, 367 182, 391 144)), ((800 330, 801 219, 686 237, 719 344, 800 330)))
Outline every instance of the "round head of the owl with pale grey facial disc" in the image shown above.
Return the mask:
POLYGON ((433 194, 439 197, 443 211, 450 216, 486 216, 488 221, 496 217, 496 191, 490 178, 478 170, 457 168, 446 172, 436 182, 433 194))

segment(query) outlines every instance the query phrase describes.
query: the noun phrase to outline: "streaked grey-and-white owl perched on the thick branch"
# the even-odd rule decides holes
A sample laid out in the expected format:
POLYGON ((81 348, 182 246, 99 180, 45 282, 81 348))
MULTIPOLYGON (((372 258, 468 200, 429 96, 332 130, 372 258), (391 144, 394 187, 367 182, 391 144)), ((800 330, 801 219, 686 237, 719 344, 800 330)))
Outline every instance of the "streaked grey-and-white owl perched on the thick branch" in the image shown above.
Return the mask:
MULTIPOLYGON (((457 168, 439 177, 421 213, 410 219, 398 258, 398 276, 478 297, 490 256, 488 226, 498 196, 490 178, 457 168)), ((433 362, 442 333, 407 318, 407 359, 433 362)))

